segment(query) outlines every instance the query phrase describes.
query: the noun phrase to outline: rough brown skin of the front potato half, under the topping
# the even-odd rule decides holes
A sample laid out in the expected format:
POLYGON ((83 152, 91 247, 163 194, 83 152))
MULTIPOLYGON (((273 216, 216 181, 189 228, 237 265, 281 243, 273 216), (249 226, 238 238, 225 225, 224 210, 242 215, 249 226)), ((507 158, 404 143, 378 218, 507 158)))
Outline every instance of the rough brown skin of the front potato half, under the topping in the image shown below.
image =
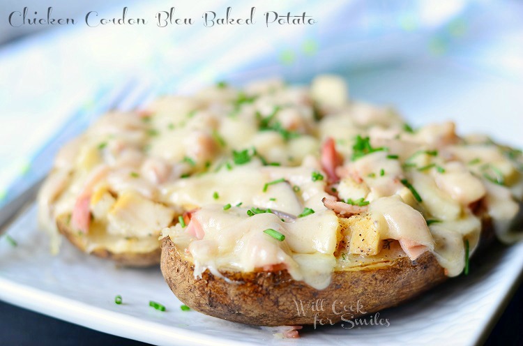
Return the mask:
POLYGON ((220 271, 234 283, 214 276, 209 270, 204 271, 202 278, 195 278, 194 265, 181 256, 169 237, 162 241, 160 267, 172 292, 190 308, 259 326, 352 319, 396 306, 447 278, 431 253, 424 253, 415 262, 400 257, 380 269, 335 271, 331 284, 322 290, 292 279, 285 270, 273 273, 220 271), (344 307, 352 307, 354 311, 343 312, 344 307))

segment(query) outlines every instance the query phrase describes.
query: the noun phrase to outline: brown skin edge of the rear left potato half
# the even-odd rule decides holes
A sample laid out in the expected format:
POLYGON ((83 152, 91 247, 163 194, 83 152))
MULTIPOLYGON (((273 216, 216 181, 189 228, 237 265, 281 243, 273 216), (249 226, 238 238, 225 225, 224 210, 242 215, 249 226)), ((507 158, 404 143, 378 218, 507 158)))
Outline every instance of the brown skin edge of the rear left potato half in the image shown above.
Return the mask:
MULTIPOLYGON (((78 232, 72 230, 67 223, 67 217, 58 218, 56 220, 56 225, 61 234, 66 236, 66 238, 73 243, 74 246, 86 253, 87 243, 86 237, 78 235, 78 232)), ((144 267, 144 266, 154 266, 160 263, 160 247, 156 248, 149 253, 112 253, 111 251, 105 248, 96 248, 91 251, 91 255, 95 255, 102 258, 107 258, 108 260, 113 260, 114 262, 121 264, 123 266, 134 266, 134 267, 144 267)))

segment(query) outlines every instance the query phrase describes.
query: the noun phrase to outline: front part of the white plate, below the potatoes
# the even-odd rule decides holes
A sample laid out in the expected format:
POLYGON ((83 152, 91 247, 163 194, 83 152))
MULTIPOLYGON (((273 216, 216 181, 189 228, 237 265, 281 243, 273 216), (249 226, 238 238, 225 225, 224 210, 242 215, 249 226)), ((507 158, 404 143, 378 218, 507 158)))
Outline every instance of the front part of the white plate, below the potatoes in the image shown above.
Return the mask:
MULTIPOLYGON (((91 329, 158 345, 289 345, 271 331, 184 312, 158 269, 122 269, 68 243, 52 257, 32 206, 0 243, 0 299, 91 329), (123 304, 116 305, 120 294, 123 304), (149 301, 166 306, 165 312, 149 301), (189 343, 189 344, 188 344, 189 343)), ((506 299, 523 267, 523 243, 497 250, 471 275, 448 281, 379 318, 390 326, 307 329, 301 345, 471 345, 506 299)), ((367 320, 370 320, 367 318, 367 320)), ((345 326, 349 326, 346 324, 345 326)))

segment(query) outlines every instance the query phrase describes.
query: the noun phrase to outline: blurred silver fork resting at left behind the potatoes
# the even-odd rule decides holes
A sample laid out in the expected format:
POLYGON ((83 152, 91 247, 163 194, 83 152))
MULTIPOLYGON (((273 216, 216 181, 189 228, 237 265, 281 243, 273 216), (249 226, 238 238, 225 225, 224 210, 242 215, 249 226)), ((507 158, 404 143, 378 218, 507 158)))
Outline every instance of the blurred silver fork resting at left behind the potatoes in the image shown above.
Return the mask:
MULTIPOLYGON (((142 106, 144 100, 149 100, 150 98, 151 88, 149 83, 138 84, 136 81, 129 80, 105 94, 94 105, 92 110, 85 110, 85 107, 82 107, 73 116, 70 116, 70 119, 52 137, 52 140, 45 144, 31 160, 31 167, 36 167, 36 170, 39 172, 39 174, 36 174, 36 181, 0 209, 0 235, 34 201, 40 186, 47 176, 47 172, 52 168, 56 152, 63 144, 82 133, 89 126, 89 123, 101 114, 109 110, 132 110, 142 106)), ((35 168, 31 169, 35 170, 35 168)), ((13 187, 23 183, 26 183, 23 176, 17 178, 11 185, 11 188, 8 189, 8 195, 13 190, 13 187)))

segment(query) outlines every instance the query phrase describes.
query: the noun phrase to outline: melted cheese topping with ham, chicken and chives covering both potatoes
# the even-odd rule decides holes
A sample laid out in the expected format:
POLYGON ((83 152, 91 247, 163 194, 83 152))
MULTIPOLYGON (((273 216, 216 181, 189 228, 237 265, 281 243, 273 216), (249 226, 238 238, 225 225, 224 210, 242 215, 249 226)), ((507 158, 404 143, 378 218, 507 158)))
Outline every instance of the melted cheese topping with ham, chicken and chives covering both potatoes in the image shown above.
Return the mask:
POLYGON ((317 289, 335 270, 434 253, 464 267, 490 217, 502 241, 523 195, 521 151, 452 122, 412 129, 387 107, 349 100, 321 76, 242 90, 220 84, 112 112, 67 146, 40 191, 40 220, 116 253, 170 236, 209 271, 277 271, 317 289))

